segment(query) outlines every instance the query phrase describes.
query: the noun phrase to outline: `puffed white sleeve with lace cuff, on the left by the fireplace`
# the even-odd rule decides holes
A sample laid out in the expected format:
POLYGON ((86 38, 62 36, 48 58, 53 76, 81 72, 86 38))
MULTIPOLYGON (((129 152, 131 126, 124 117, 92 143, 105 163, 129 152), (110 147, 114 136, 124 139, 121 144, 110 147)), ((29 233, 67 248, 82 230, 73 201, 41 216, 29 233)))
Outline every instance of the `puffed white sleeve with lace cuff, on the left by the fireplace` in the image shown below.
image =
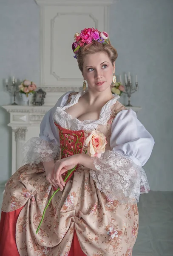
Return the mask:
POLYGON ((57 107, 63 107, 71 93, 62 95, 40 123, 39 137, 33 137, 23 146, 23 164, 37 164, 54 160, 60 152, 60 138, 54 124, 53 114, 57 107))

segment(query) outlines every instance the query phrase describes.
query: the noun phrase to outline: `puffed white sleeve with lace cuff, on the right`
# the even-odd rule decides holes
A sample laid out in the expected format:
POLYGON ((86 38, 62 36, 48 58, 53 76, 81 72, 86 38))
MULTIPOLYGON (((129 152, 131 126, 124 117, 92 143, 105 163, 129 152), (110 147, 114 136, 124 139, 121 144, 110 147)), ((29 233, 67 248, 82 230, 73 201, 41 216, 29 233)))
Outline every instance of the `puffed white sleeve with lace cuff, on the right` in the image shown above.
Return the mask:
POLYGON ((150 190, 145 165, 153 150, 154 140, 129 110, 120 111, 112 122, 111 150, 100 158, 92 157, 96 171, 91 170, 96 187, 108 198, 121 203, 137 203, 142 193, 150 190))

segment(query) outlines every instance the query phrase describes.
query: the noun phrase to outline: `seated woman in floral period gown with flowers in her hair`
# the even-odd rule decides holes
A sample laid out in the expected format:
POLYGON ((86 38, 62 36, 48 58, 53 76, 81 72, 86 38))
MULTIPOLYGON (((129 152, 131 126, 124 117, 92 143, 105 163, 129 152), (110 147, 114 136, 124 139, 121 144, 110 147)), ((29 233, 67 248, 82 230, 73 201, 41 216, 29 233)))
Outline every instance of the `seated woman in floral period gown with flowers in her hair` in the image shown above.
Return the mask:
POLYGON ((139 194, 149 191, 142 166, 154 140, 111 93, 117 52, 108 34, 92 28, 74 38, 88 88, 84 81, 83 90, 65 93, 45 114, 40 137, 26 143, 26 165, 4 193, 2 256, 132 255, 139 194))

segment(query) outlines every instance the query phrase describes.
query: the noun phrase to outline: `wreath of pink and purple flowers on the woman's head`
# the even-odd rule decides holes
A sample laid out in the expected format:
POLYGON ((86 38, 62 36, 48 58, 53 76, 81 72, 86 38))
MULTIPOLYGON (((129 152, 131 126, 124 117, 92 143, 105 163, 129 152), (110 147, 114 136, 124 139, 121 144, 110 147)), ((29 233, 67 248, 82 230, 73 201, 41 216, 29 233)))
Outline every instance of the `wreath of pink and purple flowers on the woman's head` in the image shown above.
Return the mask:
POLYGON ((81 30, 80 34, 76 33, 74 35, 75 42, 72 44, 72 50, 75 53, 74 58, 77 59, 77 53, 80 47, 84 44, 91 44, 92 41, 97 41, 101 44, 109 44, 109 35, 107 32, 100 32, 98 29, 88 28, 81 30))

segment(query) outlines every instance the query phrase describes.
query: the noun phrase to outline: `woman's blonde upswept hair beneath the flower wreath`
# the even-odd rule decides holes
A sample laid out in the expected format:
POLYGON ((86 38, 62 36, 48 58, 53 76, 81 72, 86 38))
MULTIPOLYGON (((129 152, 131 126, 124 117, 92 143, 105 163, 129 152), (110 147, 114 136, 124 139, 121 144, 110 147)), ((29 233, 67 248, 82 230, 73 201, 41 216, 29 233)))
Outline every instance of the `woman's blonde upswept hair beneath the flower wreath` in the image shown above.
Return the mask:
POLYGON ((79 66, 79 70, 83 73, 83 63, 84 58, 88 54, 93 54, 96 52, 106 52, 108 54, 108 57, 111 60, 111 63, 116 61, 116 58, 118 57, 118 53, 116 49, 111 45, 110 41, 109 44, 101 44, 97 41, 92 41, 91 44, 85 44, 83 47, 79 49, 79 52, 77 53, 77 62, 79 66))

